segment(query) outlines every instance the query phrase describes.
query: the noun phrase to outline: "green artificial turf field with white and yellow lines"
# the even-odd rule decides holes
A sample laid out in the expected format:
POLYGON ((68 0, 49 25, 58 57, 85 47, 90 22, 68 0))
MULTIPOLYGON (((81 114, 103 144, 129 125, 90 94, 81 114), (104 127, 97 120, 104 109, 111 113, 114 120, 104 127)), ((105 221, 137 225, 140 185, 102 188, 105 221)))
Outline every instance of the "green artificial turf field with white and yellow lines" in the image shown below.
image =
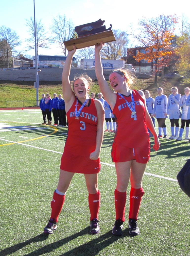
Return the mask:
MULTIPOLYGON (((129 186, 123 235, 115 237, 111 231, 115 221, 116 174, 111 161, 114 134, 105 132, 98 183, 100 233, 89 233, 85 179, 84 175, 75 174, 58 229, 48 236, 43 234, 43 228, 50 217, 67 128, 39 125, 42 122, 38 109, 0 111, 1 256, 190 255, 190 198, 180 189, 176 178, 190 158, 187 140, 161 138, 159 151, 151 149, 138 216, 140 235, 129 235, 129 186)), ((166 122, 170 136, 170 122, 168 119, 166 122)), ((151 138, 151 147, 153 143, 151 138)))

